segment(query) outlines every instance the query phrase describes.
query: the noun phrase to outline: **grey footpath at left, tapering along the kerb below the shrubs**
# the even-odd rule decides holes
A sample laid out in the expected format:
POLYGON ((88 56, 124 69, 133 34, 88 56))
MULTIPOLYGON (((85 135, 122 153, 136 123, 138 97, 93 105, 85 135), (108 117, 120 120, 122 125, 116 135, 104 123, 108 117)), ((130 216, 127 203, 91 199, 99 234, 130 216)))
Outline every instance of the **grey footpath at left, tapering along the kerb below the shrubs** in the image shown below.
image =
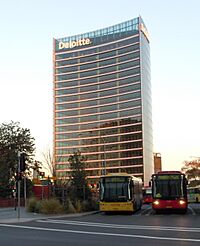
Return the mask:
POLYGON ((19 222, 28 222, 37 219, 45 219, 45 218, 66 218, 66 217, 80 217, 88 214, 96 213, 86 212, 86 213, 76 213, 76 214, 62 214, 62 215, 44 215, 37 213, 30 213, 26 211, 26 208, 20 207, 15 210, 13 207, 10 208, 0 208, 0 224, 3 223, 19 223, 19 222))

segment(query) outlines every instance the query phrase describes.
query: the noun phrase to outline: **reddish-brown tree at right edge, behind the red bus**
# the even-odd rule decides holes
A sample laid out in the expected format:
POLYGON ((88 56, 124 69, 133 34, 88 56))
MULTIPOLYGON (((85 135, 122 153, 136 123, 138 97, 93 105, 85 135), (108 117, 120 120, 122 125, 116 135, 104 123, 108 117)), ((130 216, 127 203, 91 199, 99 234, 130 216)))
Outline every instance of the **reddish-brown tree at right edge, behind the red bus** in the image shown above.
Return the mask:
POLYGON ((200 159, 185 161, 181 170, 185 173, 190 186, 200 184, 200 159))

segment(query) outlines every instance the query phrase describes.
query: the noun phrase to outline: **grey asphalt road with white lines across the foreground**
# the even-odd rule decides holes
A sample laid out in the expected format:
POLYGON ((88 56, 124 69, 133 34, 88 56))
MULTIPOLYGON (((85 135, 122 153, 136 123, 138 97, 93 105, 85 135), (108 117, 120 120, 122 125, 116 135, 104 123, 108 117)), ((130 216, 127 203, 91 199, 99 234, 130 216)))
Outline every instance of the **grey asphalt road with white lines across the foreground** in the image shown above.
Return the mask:
MULTIPOLYGON (((198 211, 200 204, 196 207, 198 211)), ((155 214, 150 206, 133 214, 96 213, 79 217, 38 218, 0 224, 1 245, 130 246, 200 245, 200 214, 155 214)))

